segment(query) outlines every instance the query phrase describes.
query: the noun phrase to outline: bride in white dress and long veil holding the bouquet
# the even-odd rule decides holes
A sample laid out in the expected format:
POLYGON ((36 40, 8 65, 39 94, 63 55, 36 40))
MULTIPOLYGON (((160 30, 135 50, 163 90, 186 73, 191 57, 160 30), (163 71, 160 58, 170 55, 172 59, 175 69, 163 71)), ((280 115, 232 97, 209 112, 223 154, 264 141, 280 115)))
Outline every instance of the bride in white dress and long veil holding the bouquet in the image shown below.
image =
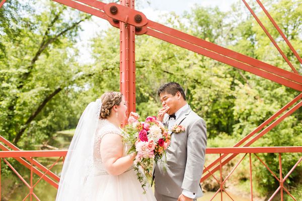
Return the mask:
POLYGON ((135 153, 122 142, 127 106, 120 92, 106 92, 83 112, 60 177, 57 201, 156 200, 133 169, 135 153))

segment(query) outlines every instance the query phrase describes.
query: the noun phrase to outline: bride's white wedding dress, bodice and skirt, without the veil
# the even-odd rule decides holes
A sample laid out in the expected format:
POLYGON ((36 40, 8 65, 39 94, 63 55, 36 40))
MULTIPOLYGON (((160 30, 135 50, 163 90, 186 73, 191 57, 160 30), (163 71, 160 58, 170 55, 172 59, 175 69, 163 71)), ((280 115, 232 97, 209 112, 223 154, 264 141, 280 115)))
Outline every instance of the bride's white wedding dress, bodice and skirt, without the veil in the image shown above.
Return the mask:
MULTIPOLYGON (((87 189, 85 189, 85 192, 87 192, 85 193, 85 200, 156 200, 149 186, 145 187, 146 193, 143 194, 143 189, 137 180, 133 167, 130 167, 124 173, 117 176, 107 173, 100 153, 101 141, 105 135, 122 136, 122 131, 107 120, 99 120, 94 142, 93 174, 87 178, 89 185, 87 185, 87 189)), ((124 145, 123 156, 127 155, 128 149, 129 146, 124 145)))

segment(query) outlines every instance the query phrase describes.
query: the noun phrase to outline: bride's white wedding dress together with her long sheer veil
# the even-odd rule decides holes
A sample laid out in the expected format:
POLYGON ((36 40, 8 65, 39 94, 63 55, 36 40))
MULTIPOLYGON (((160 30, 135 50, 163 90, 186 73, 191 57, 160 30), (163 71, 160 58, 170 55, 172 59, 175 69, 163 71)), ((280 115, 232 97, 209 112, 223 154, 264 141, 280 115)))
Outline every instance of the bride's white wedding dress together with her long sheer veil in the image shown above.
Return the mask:
MULTIPOLYGON (((56 201, 153 201, 150 187, 146 193, 131 167, 113 176, 104 168, 100 145, 104 135, 120 135, 121 129, 107 120, 100 120, 101 99, 84 110, 70 142, 60 174, 56 201)), ((123 146, 123 155, 128 152, 123 146)))

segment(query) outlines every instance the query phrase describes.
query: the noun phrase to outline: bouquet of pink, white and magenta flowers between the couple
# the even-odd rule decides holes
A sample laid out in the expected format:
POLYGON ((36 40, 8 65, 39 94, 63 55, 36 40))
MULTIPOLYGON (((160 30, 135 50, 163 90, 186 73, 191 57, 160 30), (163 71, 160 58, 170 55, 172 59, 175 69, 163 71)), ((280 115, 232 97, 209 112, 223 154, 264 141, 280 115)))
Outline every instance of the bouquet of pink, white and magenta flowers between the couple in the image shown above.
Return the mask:
POLYGON ((171 135, 156 117, 147 117, 144 122, 139 122, 138 118, 138 114, 130 113, 128 125, 124 128, 124 140, 131 146, 129 153, 137 152, 134 169, 145 192, 146 179, 139 171, 139 166, 147 172, 152 169, 154 161, 159 161, 166 153, 165 150, 171 143, 171 135))

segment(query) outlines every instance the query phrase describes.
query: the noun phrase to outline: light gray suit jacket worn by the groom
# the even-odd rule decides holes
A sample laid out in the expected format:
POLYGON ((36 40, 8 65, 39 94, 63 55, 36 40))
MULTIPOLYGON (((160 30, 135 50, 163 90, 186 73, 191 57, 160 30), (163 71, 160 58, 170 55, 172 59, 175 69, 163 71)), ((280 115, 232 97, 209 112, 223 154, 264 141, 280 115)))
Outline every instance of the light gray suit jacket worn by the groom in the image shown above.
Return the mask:
MULTIPOLYGON (((168 121, 169 116, 166 115, 165 126, 168 126, 168 121)), ((158 163, 154 168, 155 190, 159 194, 177 198, 186 189, 198 198, 203 195, 199 181, 207 142, 205 122, 190 107, 182 111, 175 122, 184 126, 185 132, 171 134, 167 164, 158 163)))

